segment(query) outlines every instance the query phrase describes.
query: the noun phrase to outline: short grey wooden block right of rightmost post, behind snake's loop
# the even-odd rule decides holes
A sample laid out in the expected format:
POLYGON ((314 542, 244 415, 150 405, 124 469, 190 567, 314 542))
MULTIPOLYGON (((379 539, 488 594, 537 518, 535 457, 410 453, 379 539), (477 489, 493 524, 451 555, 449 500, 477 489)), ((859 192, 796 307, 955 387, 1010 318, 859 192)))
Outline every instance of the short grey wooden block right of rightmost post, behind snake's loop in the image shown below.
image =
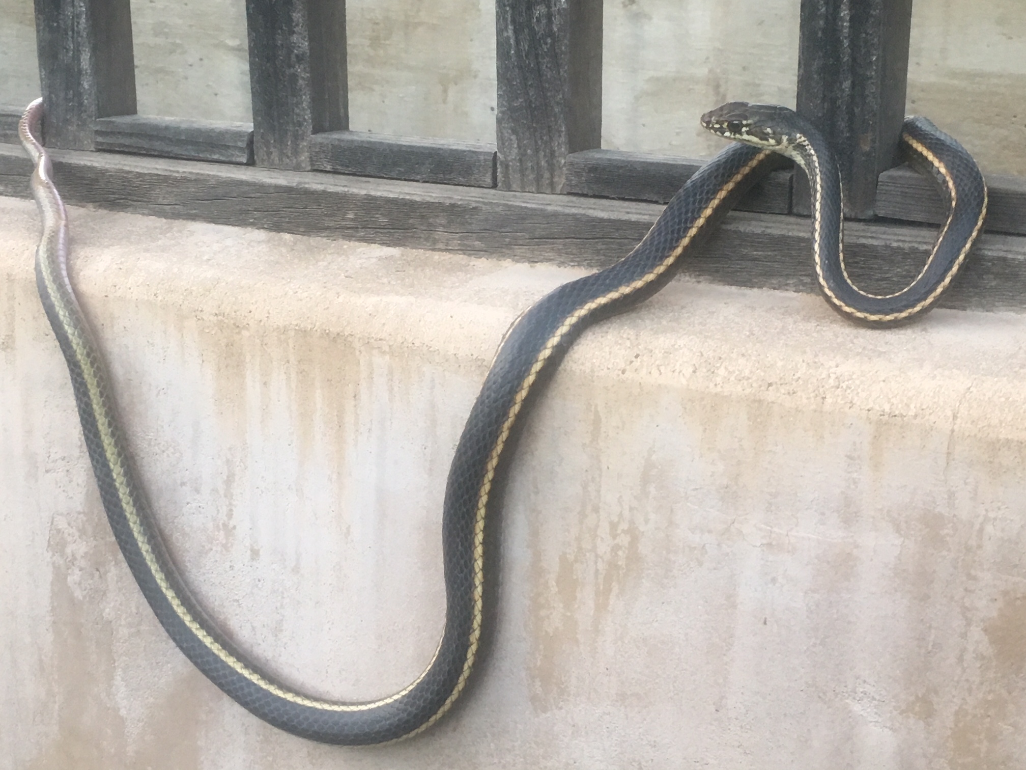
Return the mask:
MULTIPOLYGON (((987 191, 985 230, 1026 235, 1026 178, 990 175, 987 191)), ((947 218, 944 200, 934 183, 907 165, 880 175, 876 201, 880 217, 935 224, 947 218)))

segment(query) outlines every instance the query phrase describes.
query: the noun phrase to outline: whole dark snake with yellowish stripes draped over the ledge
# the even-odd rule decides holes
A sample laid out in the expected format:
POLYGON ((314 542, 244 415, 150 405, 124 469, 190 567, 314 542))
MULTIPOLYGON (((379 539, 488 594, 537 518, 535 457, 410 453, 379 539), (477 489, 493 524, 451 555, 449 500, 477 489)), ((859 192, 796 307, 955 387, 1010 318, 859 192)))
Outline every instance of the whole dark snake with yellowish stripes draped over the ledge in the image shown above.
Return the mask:
POLYGON ((643 239, 616 264, 550 292, 506 333, 456 448, 442 503, 445 617, 423 672, 387 697, 329 700, 301 692, 247 655, 194 598, 164 545, 119 417, 97 336, 68 273, 68 216, 40 142, 42 100, 18 133, 34 162, 31 190, 41 220, 36 283, 71 376, 85 448, 114 538, 143 595, 170 639, 200 671, 258 718, 289 733, 344 745, 409 738, 441 719, 466 690, 495 603, 495 546, 488 535, 524 416, 581 334, 659 292, 682 259, 712 233, 752 185, 796 162, 810 178, 813 254, 827 301, 864 324, 892 325, 921 314, 961 267, 986 213, 986 187, 972 157, 930 121, 909 119, 901 146, 938 183, 949 205, 925 267, 904 291, 874 296, 849 279, 841 251, 837 163, 823 137, 782 107, 731 103, 702 117, 738 140, 694 174, 643 239))

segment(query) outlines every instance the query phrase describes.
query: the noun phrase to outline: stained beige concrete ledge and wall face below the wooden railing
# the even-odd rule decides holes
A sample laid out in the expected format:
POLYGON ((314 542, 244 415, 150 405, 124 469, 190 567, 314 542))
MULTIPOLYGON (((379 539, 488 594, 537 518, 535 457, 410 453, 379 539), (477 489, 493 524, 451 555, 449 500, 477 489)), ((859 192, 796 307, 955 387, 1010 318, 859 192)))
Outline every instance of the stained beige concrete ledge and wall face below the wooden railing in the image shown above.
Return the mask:
MULTIPOLYGON (((72 209, 141 471, 211 612, 362 698, 440 629, 438 511, 502 334, 578 268, 72 209)), ((163 636, 107 530, 0 198, 0 766, 1016 767, 1026 756, 1026 318, 854 328, 674 281, 529 418, 496 645, 416 740, 284 735, 163 636)))

